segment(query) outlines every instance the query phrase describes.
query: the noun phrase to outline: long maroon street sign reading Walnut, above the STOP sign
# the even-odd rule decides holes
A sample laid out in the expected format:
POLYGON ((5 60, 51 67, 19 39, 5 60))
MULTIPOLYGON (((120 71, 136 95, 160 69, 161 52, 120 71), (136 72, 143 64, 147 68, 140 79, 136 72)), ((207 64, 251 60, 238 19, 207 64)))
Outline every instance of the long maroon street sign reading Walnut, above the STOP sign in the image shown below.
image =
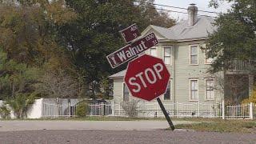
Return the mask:
POLYGON ((141 38, 129 45, 122 47, 114 53, 107 55, 106 58, 110 62, 110 66, 115 68, 122 65, 122 63, 130 61, 138 54, 156 45, 158 45, 158 39, 154 33, 151 33, 146 35, 146 37, 141 38))

